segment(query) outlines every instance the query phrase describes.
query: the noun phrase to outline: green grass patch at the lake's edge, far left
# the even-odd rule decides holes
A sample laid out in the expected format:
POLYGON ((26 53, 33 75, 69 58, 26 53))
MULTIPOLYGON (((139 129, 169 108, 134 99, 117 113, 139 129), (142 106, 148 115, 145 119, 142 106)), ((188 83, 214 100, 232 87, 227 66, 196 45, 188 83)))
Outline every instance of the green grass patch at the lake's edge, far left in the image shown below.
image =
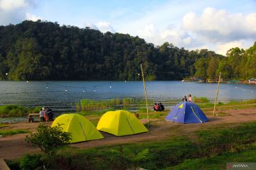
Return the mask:
POLYGON ((0 106, 0 117, 18 117, 27 115, 28 113, 39 113, 40 108, 24 108, 18 105, 4 105, 0 106))

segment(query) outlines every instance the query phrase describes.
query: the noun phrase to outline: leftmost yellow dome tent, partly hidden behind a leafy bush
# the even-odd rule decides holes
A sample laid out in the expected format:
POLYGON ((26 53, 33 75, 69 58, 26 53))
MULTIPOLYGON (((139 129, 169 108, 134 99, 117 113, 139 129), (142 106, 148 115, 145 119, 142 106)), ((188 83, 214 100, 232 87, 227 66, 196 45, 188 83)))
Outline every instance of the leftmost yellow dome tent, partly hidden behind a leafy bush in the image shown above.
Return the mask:
POLYGON ((100 140, 104 138, 87 118, 78 114, 63 114, 53 121, 51 127, 58 126, 63 128, 63 132, 70 132, 72 140, 70 143, 82 142, 87 140, 100 140))

